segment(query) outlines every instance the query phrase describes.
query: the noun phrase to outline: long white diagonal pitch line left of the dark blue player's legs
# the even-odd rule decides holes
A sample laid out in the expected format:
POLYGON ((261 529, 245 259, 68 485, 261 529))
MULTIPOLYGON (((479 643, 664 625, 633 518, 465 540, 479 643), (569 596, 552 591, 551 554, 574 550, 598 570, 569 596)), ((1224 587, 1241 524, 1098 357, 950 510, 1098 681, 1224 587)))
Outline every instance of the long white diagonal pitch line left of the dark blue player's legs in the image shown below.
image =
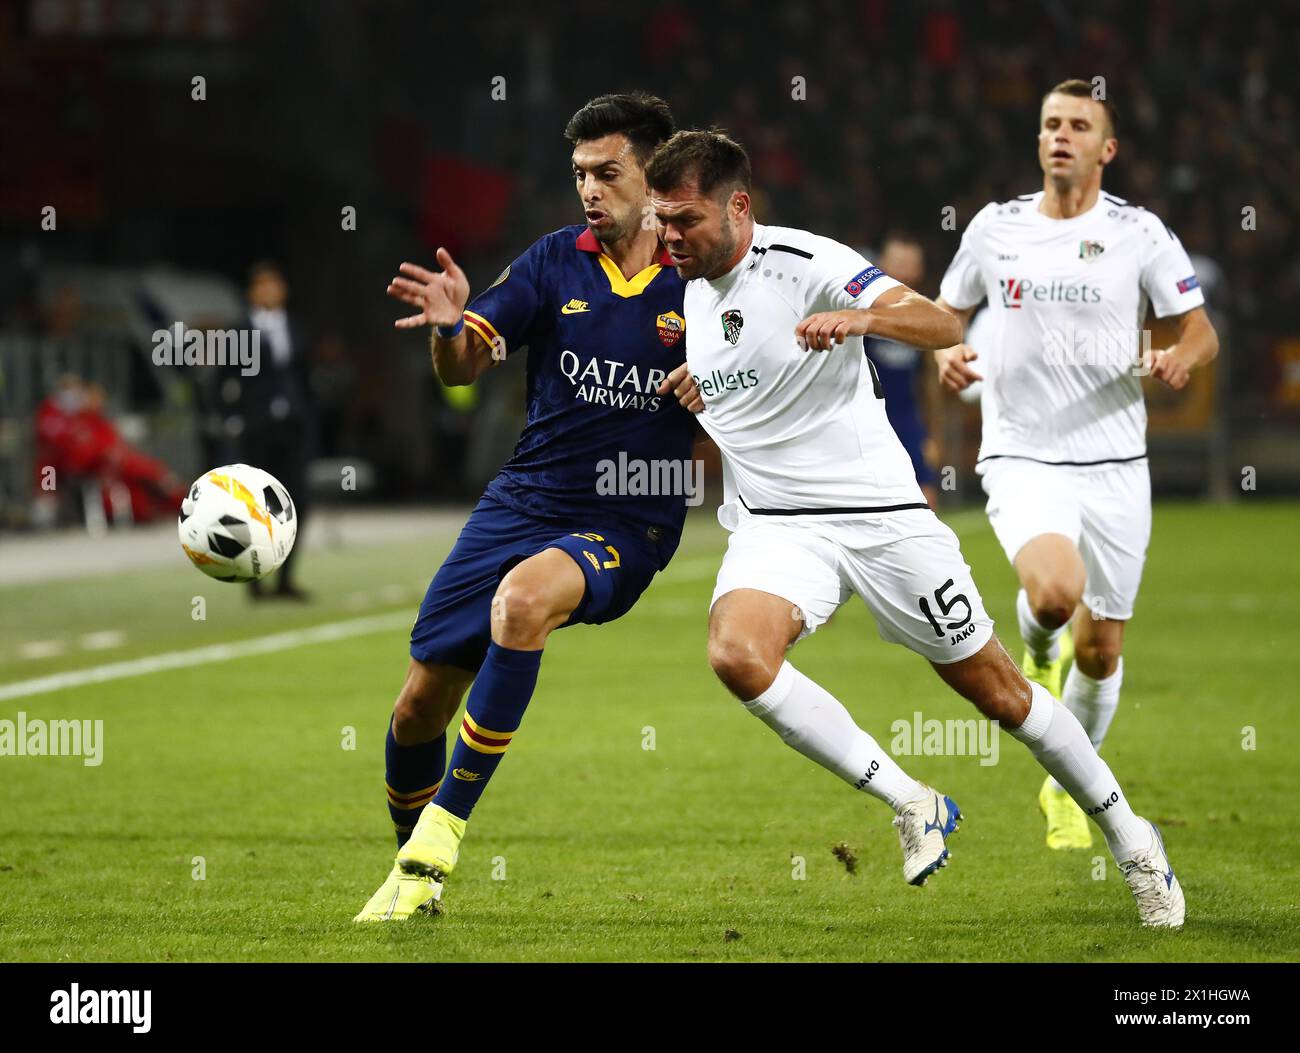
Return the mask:
POLYGON ((0 685, 0 702, 10 698, 26 698, 32 694, 61 692, 68 688, 82 688, 87 684, 103 684, 105 680, 122 680, 127 676, 144 676, 164 670, 183 670, 190 666, 204 666, 211 662, 229 662, 231 658, 246 658, 255 654, 272 654, 291 647, 304 647, 309 644, 329 644, 346 640, 350 636, 408 628, 410 614, 384 614, 368 618, 354 618, 347 621, 328 621, 307 629, 290 629, 257 640, 240 640, 234 644, 213 644, 207 647, 194 647, 187 651, 165 651, 162 654, 133 658, 127 662, 113 662, 108 666, 92 666, 88 670, 39 676, 34 680, 20 680, 0 685))

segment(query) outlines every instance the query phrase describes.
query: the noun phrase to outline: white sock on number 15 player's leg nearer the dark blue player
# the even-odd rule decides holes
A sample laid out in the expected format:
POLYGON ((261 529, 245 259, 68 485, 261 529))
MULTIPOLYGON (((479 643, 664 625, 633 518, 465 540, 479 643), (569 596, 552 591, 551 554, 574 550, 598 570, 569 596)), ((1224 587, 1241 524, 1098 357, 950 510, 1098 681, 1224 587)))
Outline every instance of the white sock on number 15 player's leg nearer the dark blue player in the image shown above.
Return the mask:
POLYGON ((771 686, 745 708, 781 736, 786 746, 816 760, 855 789, 894 811, 926 793, 826 688, 783 662, 771 686))

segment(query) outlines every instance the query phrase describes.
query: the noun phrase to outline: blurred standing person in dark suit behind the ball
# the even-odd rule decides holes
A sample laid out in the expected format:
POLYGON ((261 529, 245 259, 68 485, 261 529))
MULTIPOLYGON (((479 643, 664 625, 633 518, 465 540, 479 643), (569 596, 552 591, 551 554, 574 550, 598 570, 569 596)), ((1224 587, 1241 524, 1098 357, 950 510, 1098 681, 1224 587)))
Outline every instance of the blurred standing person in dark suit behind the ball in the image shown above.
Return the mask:
MULTIPOLYGON (((303 514, 309 503, 307 468, 315 452, 316 415, 311 395, 311 346, 298 318, 291 316, 289 283, 280 266, 268 260, 248 269, 248 328, 260 337, 259 368, 243 376, 230 368, 224 384, 238 380, 235 402, 239 459, 264 468, 278 478, 294 499, 298 530, 302 537, 303 514)), ((302 543, 280 569, 274 592, 263 582, 251 586, 254 598, 277 595, 306 599, 307 594, 294 582, 294 571, 302 543)))

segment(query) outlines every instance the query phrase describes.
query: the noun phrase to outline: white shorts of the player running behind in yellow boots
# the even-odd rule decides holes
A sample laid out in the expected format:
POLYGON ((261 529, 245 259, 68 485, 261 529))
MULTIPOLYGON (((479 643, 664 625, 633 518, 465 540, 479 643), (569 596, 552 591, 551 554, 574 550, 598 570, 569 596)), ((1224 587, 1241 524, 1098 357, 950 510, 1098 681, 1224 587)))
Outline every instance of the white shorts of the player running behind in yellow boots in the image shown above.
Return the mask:
POLYGON ((1076 468, 996 458, 976 471, 988 494, 993 533, 1013 564, 1031 538, 1065 534, 1078 546, 1088 573, 1084 604, 1097 618, 1134 616, 1150 541, 1145 459, 1076 468))

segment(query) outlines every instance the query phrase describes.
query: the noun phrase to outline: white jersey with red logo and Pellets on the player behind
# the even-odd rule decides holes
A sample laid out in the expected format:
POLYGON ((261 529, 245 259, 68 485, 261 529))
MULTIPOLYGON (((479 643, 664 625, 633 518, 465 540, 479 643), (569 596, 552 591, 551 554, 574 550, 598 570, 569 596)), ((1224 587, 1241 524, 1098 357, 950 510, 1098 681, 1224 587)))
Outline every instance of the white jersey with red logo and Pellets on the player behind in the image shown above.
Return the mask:
POLYGON ((1138 374, 1148 303, 1182 315, 1205 298, 1182 242, 1138 205, 1100 194, 1053 220, 1043 191, 985 205, 944 274, 953 307, 988 299, 980 460, 1098 464, 1147 452, 1138 374))

